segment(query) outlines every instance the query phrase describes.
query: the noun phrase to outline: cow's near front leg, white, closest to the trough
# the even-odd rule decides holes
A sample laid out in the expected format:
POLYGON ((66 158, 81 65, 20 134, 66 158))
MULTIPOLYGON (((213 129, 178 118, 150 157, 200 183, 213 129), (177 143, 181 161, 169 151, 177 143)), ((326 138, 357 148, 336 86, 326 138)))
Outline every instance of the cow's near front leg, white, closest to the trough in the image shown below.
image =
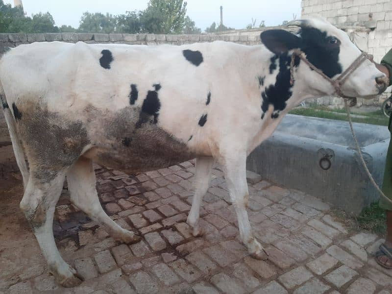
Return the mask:
POLYGON ((223 168, 231 201, 235 206, 240 239, 253 258, 268 259, 263 246, 253 237, 246 212, 249 197, 246 183, 246 153, 230 154, 223 159, 223 168))

